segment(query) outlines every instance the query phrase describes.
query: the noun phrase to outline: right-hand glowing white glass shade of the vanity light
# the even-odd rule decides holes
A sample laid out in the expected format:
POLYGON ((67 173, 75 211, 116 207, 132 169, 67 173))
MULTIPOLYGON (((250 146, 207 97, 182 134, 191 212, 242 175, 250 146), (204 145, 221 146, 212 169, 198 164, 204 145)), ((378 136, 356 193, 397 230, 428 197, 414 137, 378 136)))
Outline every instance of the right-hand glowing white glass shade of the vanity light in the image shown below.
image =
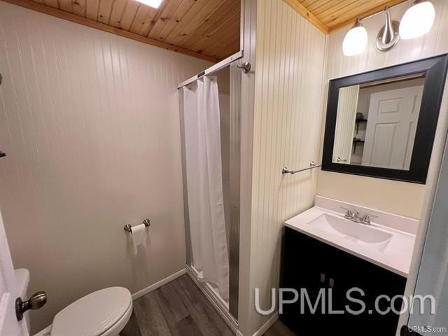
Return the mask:
POLYGON ((406 10, 400 22, 400 37, 403 40, 427 34, 433 27, 435 9, 430 1, 416 1, 406 10))

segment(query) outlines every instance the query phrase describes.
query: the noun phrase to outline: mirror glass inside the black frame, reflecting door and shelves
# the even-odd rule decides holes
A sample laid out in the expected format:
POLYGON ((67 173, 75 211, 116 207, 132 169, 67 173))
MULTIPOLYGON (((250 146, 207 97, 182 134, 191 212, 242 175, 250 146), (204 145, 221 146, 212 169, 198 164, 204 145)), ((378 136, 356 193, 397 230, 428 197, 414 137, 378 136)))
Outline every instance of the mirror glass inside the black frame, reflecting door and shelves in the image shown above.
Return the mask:
POLYGON ((332 162, 409 170, 425 73, 339 88, 332 162))

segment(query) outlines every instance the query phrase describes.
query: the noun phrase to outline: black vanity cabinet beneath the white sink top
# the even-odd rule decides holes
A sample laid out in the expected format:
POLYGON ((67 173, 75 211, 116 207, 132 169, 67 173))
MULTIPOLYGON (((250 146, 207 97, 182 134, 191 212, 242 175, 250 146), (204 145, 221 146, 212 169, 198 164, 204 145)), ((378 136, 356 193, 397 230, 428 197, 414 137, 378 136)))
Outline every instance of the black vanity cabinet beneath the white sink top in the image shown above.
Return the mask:
MULTIPOLYGON (((402 295, 405 277, 291 228, 285 228, 282 260, 280 287, 297 290, 299 300, 283 304, 280 319, 298 335, 395 335, 399 316, 393 311, 377 313, 375 300, 379 295, 391 298, 402 295), (325 294, 311 314, 304 290, 314 306, 321 288, 325 289, 325 294), (359 291, 351 292, 352 301, 365 302, 363 313, 360 313, 360 302, 346 298, 351 288, 360 288, 365 293, 362 296, 359 291), (356 315, 347 311, 347 304, 356 315), (344 314, 330 314, 330 309, 333 312, 343 310, 344 314)), ((292 300, 293 296, 291 291, 283 292, 283 300, 292 300)), ((385 298, 378 302, 381 312, 391 307, 391 302, 385 298)), ((401 305, 401 298, 395 300, 398 311, 401 305)))

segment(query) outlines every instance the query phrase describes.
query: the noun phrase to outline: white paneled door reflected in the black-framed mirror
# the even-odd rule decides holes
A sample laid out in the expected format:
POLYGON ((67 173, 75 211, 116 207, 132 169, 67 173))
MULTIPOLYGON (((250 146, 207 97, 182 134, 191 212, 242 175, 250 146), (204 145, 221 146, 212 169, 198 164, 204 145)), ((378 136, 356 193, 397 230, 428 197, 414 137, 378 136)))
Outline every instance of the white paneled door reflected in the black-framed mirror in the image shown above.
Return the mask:
POLYGON ((423 86, 372 93, 363 166, 409 170, 423 86))

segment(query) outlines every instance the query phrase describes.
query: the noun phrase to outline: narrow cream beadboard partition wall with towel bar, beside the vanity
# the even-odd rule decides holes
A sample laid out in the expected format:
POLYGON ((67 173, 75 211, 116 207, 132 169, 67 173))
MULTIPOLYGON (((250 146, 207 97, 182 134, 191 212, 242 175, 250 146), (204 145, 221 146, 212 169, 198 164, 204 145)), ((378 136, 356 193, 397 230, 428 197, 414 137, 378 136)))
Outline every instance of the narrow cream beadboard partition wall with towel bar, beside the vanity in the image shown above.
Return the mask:
MULTIPOLYGON (((320 160, 325 34, 284 1, 259 0, 257 18, 250 290, 260 288, 267 309, 279 286, 283 221, 316 195, 316 170, 281 169, 320 160)), ((251 335, 269 317, 254 313, 251 335)))

